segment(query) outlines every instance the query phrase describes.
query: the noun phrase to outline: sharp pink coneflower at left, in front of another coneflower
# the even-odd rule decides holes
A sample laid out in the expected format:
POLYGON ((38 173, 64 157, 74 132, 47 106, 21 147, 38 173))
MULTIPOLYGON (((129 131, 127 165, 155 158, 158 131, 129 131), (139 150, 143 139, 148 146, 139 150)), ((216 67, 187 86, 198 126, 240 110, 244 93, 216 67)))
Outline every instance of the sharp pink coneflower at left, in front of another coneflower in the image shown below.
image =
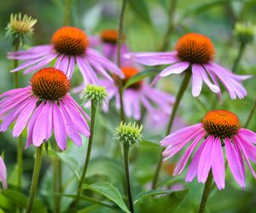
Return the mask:
POLYGON ((13 136, 18 137, 27 125, 26 148, 39 147, 49 140, 54 130, 58 147, 66 149, 66 136, 78 147, 90 131, 82 108, 70 97, 70 81, 62 71, 54 68, 40 69, 30 79, 30 85, 13 89, 0 95, 0 116, 4 115, 0 131, 5 132, 16 120, 13 136))

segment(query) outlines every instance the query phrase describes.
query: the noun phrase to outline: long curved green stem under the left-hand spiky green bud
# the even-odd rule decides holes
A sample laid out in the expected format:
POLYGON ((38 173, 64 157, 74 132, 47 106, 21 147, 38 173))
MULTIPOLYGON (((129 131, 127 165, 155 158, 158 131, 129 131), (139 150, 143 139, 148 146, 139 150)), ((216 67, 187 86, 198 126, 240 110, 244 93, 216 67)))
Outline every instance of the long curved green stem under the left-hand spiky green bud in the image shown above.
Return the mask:
POLYGON ((91 115, 90 115, 90 137, 88 141, 88 148, 86 153, 86 162, 82 170, 82 176, 78 184, 78 191, 77 191, 77 197, 75 199, 74 203, 74 213, 78 211, 78 203, 80 199, 80 195, 82 193, 82 183, 84 182, 84 179, 86 178, 86 171, 89 165, 90 161, 90 151, 92 148, 93 140, 94 140, 94 127, 95 127, 95 120, 96 120, 96 111, 97 111, 97 102, 91 101, 91 115))

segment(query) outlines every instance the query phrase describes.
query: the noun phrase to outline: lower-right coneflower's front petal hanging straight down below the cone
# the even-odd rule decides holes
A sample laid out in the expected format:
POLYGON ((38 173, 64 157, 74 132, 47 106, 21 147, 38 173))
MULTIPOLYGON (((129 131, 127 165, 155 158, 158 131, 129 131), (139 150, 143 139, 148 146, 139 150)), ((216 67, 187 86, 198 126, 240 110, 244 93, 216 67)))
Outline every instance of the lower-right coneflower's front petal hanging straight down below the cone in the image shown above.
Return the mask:
POLYGON ((214 140, 213 148, 212 172, 218 189, 222 190, 225 188, 225 162, 222 152, 222 144, 218 137, 214 140))

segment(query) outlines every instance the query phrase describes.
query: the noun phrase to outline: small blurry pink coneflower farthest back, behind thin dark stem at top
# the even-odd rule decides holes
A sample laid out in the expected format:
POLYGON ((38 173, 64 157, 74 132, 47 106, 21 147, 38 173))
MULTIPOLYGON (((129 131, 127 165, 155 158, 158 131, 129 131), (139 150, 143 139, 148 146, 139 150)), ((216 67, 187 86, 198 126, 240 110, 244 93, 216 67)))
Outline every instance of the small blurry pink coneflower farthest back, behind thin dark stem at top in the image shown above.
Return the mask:
MULTIPOLYGON (((122 35, 122 44, 120 49, 121 65, 124 65, 122 55, 129 52, 124 43, 125 35, 122 35)), ((117 62, 118 53, 118 30, 103 30, 100 37, 90 37, 90 46, 102 46, 102 53, 111 61, 117 62)))

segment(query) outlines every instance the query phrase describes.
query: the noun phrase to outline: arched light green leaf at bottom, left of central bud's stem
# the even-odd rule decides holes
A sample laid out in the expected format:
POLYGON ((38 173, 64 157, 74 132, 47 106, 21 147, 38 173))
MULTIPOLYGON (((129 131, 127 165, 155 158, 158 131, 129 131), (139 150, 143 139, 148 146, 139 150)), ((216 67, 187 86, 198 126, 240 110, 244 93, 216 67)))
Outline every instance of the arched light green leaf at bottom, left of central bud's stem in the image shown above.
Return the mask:
POLYGON ((118 205, 123 211, 130 213, 122 199, 122 195, 118 191, 117 187, 114 187, 112 183, 102 182, 102 183, 93 183, 93 184, 83 184, 83 189, 89 189, 94 191, 107 199, 110 199, 118 205))

